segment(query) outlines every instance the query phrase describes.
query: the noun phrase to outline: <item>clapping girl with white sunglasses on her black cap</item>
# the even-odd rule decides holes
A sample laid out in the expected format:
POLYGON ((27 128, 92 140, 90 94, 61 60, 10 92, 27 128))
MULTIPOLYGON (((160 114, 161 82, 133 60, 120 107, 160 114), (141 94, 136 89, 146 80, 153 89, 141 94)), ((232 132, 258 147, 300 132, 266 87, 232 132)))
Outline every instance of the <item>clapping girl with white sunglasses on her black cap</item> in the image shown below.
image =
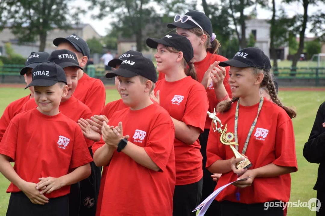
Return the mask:
MULTIPOLYGON (((228 59, 217 54, 220 43, 215 38, 210 19, 204 13, 190 11, 184 16, 176 15, 174 21, 174 23, 168 24, 167 27, 176 28, 177 34, 187 37, 191 42, 195 59, 194 67, 198 81, 204 86, 207 92, 209 111, 213 112, 220 101, 230 101, 232 97, 228 84, 229 67, 226 67, 225 73, 217 73, 218 63, 227 61, 228 59), (212 80, 213 77, 215 77, 215 80, 212 80)), ((163 77, 164 74, 159 73, 158 80, 163 77)), ((203 164, 206 163, 206 143, 210 126, 211 119, 206 116, 204 131, 199 137, 203 164)), ((215 182, 211 178, 211 173, 205 167, 203 168, 203 181, 201 201, 207 198, 215 187, 215 182)), ((218 211, 218 203, 215 201, 205 215, 218 216, 218 211)))

